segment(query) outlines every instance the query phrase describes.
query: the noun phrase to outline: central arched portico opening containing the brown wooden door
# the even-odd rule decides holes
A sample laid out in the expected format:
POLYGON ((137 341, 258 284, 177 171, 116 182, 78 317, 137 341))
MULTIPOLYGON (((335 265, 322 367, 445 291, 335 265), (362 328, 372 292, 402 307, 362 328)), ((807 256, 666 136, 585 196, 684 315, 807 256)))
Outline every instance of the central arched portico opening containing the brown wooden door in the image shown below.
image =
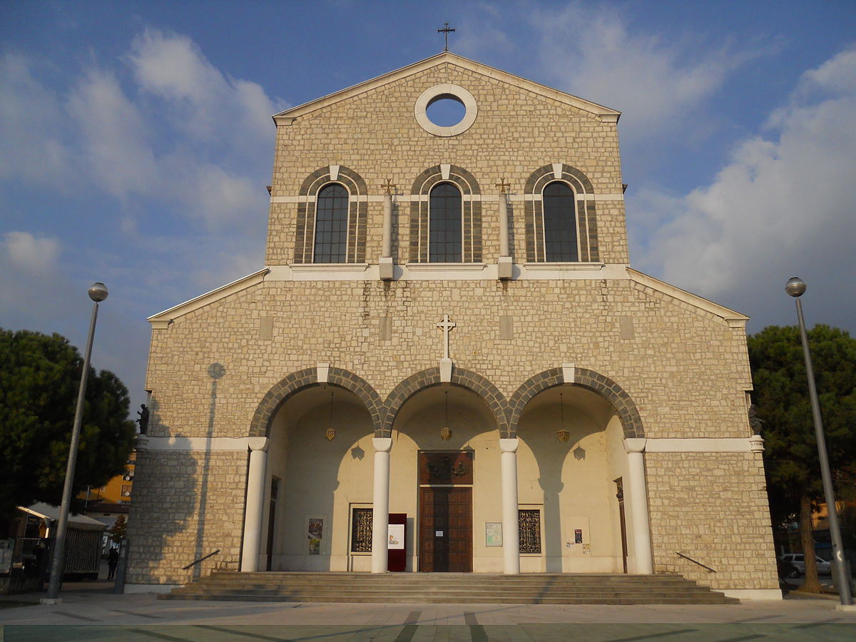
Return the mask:
POLYGON ((401 406, 392 429, 389 512, 406 513, 407 568, 423 572, 502 570, 484 523, 502 520, 499 431, 484 400, 440 384, 401 406))

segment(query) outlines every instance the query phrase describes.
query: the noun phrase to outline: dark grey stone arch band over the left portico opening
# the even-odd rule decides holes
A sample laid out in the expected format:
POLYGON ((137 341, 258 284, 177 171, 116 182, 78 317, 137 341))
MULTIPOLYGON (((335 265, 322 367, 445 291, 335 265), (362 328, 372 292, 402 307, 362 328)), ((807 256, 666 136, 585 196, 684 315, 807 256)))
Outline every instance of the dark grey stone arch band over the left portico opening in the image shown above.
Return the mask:
MULTIPOLYGON (((381 425, 385 415, 383 401, 365 379, 342 368, 330 367, 326 383, 357 395, 372 417, 372 425, 377 433, 378 426, 381 425)), ((324 385, 324 383, 318 382, 317 367, 292 372, 288 377, 284 377, 282 381, 276 383, 256 407, 256 412, 253 413, 253 419, 250 421, 249 437, 270 437, 270 422, 276 416, 279 407, 300 390, 316 385, 324 385)))

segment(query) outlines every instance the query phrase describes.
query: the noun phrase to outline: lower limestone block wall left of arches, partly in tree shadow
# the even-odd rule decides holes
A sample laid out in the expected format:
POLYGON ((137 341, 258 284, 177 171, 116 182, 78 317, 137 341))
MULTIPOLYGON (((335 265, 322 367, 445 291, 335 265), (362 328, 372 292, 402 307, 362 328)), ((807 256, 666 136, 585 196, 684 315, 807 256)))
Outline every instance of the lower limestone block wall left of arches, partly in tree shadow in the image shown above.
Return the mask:
POLYGON ((241 555, 247 454, 138 451, 128 584, 184 584, 241 555), (138 485, 139 484, 139 485, 138 485), (188 564, 219 549, 196 567, 188 564))

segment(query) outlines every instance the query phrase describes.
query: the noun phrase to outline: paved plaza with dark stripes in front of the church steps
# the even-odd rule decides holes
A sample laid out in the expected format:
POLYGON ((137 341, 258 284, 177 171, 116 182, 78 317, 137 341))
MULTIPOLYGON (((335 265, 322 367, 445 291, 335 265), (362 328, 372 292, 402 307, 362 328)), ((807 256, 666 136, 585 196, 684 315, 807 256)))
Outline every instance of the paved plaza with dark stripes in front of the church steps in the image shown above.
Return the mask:
POLYGON ((856 639, 835 599, 736 605, 180 602, 114 595, 106 583, 3 598, 3 642, 19 640, 801 640, 856 639), (20 604, 15 605, 14 604, 20 604))

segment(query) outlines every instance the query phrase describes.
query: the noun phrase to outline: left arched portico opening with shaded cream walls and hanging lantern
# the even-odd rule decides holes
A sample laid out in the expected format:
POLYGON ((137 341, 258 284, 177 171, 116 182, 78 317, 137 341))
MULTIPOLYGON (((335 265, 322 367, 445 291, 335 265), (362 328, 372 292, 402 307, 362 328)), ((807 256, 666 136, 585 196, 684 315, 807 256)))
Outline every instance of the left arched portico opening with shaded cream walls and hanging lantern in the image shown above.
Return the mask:
POLYGON ((367 570, 350 554, 354 515, 372 506, 374 430, 360 398, 324 383, 302 389, 276 411, 269 434, 269 557, 259 568, 367 570))

